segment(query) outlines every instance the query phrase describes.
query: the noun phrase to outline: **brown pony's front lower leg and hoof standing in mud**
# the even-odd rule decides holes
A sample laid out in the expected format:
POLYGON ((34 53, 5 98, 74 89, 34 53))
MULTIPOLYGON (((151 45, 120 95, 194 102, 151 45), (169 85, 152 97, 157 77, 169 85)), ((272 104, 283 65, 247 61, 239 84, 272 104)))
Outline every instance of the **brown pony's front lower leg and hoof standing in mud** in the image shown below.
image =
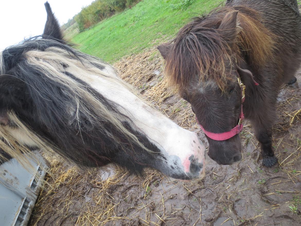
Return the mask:
MULTIPOLYGON (((267 116, 271 116, 266 114, 267 116)), ((273 117, 271 117, 273 118, 273 117)), ((264 117, 261 120, 252 121, 253 128, 255 130, 255 136, 261 146, 262 165, 266 167, 272 167, 278 162, 278 159, 274 156, 272 149, 272 126, 271 118, 264 117)))

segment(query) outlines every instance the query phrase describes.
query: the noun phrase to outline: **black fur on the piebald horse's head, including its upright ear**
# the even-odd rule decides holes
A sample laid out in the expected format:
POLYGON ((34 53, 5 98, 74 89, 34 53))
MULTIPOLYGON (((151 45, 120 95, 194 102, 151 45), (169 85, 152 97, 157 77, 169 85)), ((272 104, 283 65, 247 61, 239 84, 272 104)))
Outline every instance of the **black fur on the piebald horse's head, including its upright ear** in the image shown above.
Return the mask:
MULTIPOLYGON (((2 52, 4 75, 0 76, 0 116, 14 111, 20 121, 47 140, 54 150, 79 165, 99 167, 113 163, 137 174, 142 174, 145 167, 166 165, 166 159, 160 154, 157 146, 151 143, 145 134, 133 127, 131 119, 121 113, 121 106, 106 99, 75 75, 64 72, 66 77, 73 79, 82 89, 105 105, 108 111, 116 115, 116 118, 120 118, 123 126, 154 153, 149 153, 137 143, 129 141, 115 124, 98 117, 97 110, 89 102, 82 100, 71 87, 50 79, 43 74, 44 71, 39 65, 28 63, 25 57, 28 51, 43 52, 50 47, 56 47, 62 52, 67 51, 70 58, 84 60, 86 67, 98 67, 101 70, 104 68, 100 60, 98 60, 99 64, 95 61, 91 62, 90 60, 95 58, 64 44, 59 25, 48 2, 45 3, 45 7, 48 16, 42 39, 33 37, 2 52), (90 65, 87 65, 89 62, 90 65), (81 108, 78 110, 79 121, 74 119, 74 115, 70 115, 68 106, 77 106, 73 98, 76 96, 88 109, 89 114, 98 117, 95 123, 92 124, 87 120, 81 108), (115 139, 110 137, 111 134, 115 139)), ((65 62, 58 63, 61 63, 64 69, 69 66, 65 62)), ((15 127, 11 122, 8 122, 8 126, 15 127)), ((0 155, 11 159, 11 156, 1 149, 0 155)), ((4 159, 0 159, 0 162, 3 161, 4 159)), ((175 177, 187 179, 185 175, 175 177)))

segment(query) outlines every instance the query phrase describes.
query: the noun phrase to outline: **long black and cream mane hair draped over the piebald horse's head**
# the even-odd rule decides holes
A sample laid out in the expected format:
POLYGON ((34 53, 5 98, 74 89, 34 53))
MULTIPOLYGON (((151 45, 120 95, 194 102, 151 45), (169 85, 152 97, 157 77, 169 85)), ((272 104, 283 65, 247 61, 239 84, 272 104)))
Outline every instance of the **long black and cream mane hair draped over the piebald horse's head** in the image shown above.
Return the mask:
POLYGON ((8 118, 0 123, 0 164, 8 159, 3 153, 22 163, 34 149, 91 167, 113 162, 117 152, 132 162, 136 150, 153 153, 131 113, 81 79, 94 74, 131 90, 103 61, 34 37, 1 52, 0 71, 0 117, 8 118))

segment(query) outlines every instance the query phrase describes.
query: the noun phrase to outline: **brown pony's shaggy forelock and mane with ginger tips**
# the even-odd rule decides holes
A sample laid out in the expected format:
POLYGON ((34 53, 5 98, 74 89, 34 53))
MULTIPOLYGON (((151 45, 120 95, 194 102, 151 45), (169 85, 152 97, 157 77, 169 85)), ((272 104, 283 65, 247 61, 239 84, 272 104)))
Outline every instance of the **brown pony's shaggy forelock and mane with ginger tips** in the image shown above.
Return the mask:
POLYGON ((175 88, 188 87, 197 77, 200 82, 214 80, 224 90, 235 61, 247 58, 254 70, 273 55, 276 36, 261 23, 255 10, 246 6, 223 6, 203 17, 195 17, 172 41, 166 56, 165 73, 175 88), (220 34, 226 14, 237 13, 237 35, 233 45, 220 34))

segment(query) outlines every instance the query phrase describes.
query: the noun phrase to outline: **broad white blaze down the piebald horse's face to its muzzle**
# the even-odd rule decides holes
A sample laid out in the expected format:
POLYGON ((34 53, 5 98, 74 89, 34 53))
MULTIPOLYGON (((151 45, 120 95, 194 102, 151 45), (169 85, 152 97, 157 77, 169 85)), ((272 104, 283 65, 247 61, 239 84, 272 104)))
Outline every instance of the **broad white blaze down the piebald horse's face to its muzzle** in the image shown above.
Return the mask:
MULTIPOLYGON (((199 143, 196 133, 179 127, 169 118, 151 108, 129 91, 127 87, 123 86, 119 78, 111 79, 110 77, 99 76, 99 74, 93 73, 76 73, 76 68, 72 66, 68 67, 66 71, 89 83, 106 98, 126 109, 127 111, 123 112, 123 114, 129 116, 135 127, 146 134, 151 139, 151 142, 160 149, 161 153, 166 157, 169 166, 174 166, 174 162, 177 162, 177 165, 183 165, 191 155, 198 158, 199 162, 203 162, 205 148, 203 144, 199 143), (172 156, 177 156, 178 158, 173 158, 172 156)), ((184 171, 184 167, 181 170, 184 171)), ((188 173, 187 169, 185 171, 188 173)))

